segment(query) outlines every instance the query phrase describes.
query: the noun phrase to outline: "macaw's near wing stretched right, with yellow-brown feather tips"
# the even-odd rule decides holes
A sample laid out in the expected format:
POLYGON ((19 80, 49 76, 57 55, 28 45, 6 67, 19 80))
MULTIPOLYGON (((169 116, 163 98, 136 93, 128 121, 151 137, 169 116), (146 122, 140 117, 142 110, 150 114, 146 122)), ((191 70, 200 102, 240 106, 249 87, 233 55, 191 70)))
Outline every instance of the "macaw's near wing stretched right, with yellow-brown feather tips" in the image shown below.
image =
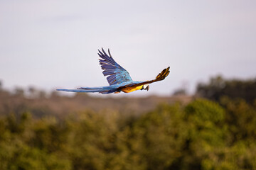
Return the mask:
POLYGON ((132 84, 127 84, 125 86, 120 86, 117 90, 121 90, 121 89, 124 89, 126 87, 133 87, 133 88, 136 88, 137 86, 142 86, 144 84, 151 84, 151 83, 154 83, 156 81, 161 81, 161 80, 164 80, 170 73, 169 71, 170 67, 167 67, 166 69, 164 69, 163 71, 161 71, 161 73, 159 73, 157 76, 156 76, 156 79, 153 79, 153 80, 149 80, 149 81, 142 81, 142 82, 139 82, 139 83, 132 83, 132 84))

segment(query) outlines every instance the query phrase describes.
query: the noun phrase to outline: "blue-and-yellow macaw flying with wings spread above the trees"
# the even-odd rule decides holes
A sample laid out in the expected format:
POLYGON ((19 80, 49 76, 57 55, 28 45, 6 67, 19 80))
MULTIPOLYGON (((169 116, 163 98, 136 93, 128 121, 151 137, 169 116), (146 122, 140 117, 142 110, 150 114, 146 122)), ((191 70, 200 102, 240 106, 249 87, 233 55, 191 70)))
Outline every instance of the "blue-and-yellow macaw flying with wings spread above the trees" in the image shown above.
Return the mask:
POLYGON ((57 89, 57 91, 71 91, 71 92, 98 92, 100 94, 118 94, 121 91, 124 93, 130 93, 137 90, 149 91, 149 84, 156 81, 164 80, 170 73, 170 67, 164 69, 161 73, 156 76, 156 79, 150 81, 132 81, 129 76, 129 72, 121 67, 117 62, 114 61, 110 54, 110 49, 107 53, 103 50, 98 50, 100 59, 100 65, 103 69, 103 75, 107 76, 107 81, 110 86, 99 86, 99 87, 80 87, 78 89, 57 89))

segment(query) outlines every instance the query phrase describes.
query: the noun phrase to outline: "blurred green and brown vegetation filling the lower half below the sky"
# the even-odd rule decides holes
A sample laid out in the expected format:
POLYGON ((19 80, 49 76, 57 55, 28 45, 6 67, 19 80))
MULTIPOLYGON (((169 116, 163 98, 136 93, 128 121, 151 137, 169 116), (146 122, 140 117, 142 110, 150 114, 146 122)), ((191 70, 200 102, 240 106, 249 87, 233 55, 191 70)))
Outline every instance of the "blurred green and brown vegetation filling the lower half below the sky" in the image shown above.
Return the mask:
POLYGON ((139 113, 73 109, 73 100, 118 108, 134 98, 31 94, 0 90, 0 169, 256 169, 255 99, 164 98, 139 113))

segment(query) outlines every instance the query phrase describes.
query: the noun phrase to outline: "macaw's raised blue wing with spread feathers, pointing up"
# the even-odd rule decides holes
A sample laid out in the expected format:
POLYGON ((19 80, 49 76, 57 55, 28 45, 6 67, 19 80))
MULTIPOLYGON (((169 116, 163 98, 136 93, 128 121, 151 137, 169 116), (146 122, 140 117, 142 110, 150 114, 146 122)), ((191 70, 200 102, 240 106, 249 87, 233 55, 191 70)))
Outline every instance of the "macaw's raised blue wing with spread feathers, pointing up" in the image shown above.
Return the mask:
POLYGON ((107 55, 103 48, 102 52, 100 50, 98 51, 98 55, 102 58, 100 59, 100 65, 104 70, 102 73, 104 76, 107 76, 107 81, 110 85, 132 81, 129 72, 114 61, 110 54, 110 49, 108 50, 109 55, 107 55))

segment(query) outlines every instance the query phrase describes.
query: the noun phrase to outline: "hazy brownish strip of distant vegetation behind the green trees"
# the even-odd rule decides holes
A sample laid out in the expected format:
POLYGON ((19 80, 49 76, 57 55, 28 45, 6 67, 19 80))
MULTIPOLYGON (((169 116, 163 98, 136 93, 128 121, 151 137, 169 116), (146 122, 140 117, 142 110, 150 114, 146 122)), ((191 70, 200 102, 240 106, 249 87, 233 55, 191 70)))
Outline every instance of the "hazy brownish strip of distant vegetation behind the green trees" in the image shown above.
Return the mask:
POLYGON ((58 91, 47 93, 41 89, 29 86, 26 89, 16 87, 14 90, 1 88, 0 81, 0 115, 15 113, 20 115, 23 112, 30 112, 33 118, 41 118, 46 115, 55 115, 63 118, 69 113, 82 111, 102 110, 114 111, 122 114, 139 115, 156 108, 158 103, 175 103, 180 101, 183 104, 191 101, 191 96, 147 96, 147 97, 118 97, 109 96, 92 97, 88 94, 77 93, 74 96, 62 96, 58 91), (99 104, 100 103, 100 104, 99 104))

